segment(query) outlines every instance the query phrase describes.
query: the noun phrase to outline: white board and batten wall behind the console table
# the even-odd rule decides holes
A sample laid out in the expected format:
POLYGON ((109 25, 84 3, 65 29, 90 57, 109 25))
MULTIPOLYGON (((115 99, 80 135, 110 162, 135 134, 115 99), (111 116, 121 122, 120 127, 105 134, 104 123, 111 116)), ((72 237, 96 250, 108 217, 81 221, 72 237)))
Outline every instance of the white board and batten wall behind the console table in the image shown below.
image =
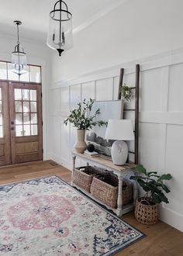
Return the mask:
MULTIPOLYGON (((140 64, 140 164, 147 170, 171 173, 169 204, 160 218, 183 231, 183 49, 157 55, 140 64)), ((135 64, 126 67, 124 81, 134 86, 135 64)), ((69 109, 83 99, 115 100, 119 66, 78 79, 60 81, 50 88, 48 155, 71 169, 76 129, 64 125, 69 109)), ((85 164, 78 162, 78 164, 85 164)))

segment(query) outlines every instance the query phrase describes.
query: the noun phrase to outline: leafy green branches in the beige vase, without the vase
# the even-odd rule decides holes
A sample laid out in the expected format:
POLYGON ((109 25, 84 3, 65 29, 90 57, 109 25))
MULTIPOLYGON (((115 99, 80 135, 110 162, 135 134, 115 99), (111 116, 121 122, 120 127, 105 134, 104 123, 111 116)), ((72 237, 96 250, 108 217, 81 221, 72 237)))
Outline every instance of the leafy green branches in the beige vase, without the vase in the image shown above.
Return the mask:
POLYGON ((88 102, 86 102, 86 99, 82 103, 79 102, 78 108, 70 111, 71 114, 64 120, 64 124, 67 125, 68 122, 73 123, 74 127, 77 127, 79 130, 90 130, 96 125, 106 125, 107 123, 102 120, 95 121, 95 117, 100 114, 100 109, 97 109, 91 116, 93 103, 93 99, 90 99, 88 102))

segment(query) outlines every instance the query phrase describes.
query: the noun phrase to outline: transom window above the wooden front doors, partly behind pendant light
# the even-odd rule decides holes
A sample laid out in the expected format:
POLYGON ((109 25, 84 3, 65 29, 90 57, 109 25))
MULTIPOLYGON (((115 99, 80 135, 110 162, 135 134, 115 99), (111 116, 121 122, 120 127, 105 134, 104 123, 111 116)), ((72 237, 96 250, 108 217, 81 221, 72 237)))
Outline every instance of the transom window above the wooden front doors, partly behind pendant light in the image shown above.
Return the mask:
POLYGON ((16 74, 12 71, 12 64, 6 61, 0 61, 0 79, 12 81, 28 81, 41 82, 41 67, 34 65, 27 65, 27 72, 25 74, 16 74))

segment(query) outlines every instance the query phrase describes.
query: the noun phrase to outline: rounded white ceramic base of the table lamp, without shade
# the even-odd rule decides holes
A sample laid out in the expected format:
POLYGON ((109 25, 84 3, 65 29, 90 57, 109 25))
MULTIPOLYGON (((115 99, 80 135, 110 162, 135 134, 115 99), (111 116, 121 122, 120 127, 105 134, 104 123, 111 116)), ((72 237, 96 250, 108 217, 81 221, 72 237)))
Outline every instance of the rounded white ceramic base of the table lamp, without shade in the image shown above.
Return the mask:
POLYGON ((112 162, 116 165, 126 163, 128 157, 128 146, 123 140, 116 140, 111 148, 112 162))

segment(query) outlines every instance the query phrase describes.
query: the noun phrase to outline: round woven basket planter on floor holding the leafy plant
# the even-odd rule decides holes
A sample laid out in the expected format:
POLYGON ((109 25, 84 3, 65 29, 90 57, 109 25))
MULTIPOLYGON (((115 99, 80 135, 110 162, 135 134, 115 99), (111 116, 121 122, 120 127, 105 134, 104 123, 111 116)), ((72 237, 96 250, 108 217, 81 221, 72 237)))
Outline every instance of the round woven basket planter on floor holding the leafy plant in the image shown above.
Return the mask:
POLYGON ((135 217, 142 224, 153 225, 157 223, 157 204, 150 205, 148 203, 143 197, 136 200, 135 217))

